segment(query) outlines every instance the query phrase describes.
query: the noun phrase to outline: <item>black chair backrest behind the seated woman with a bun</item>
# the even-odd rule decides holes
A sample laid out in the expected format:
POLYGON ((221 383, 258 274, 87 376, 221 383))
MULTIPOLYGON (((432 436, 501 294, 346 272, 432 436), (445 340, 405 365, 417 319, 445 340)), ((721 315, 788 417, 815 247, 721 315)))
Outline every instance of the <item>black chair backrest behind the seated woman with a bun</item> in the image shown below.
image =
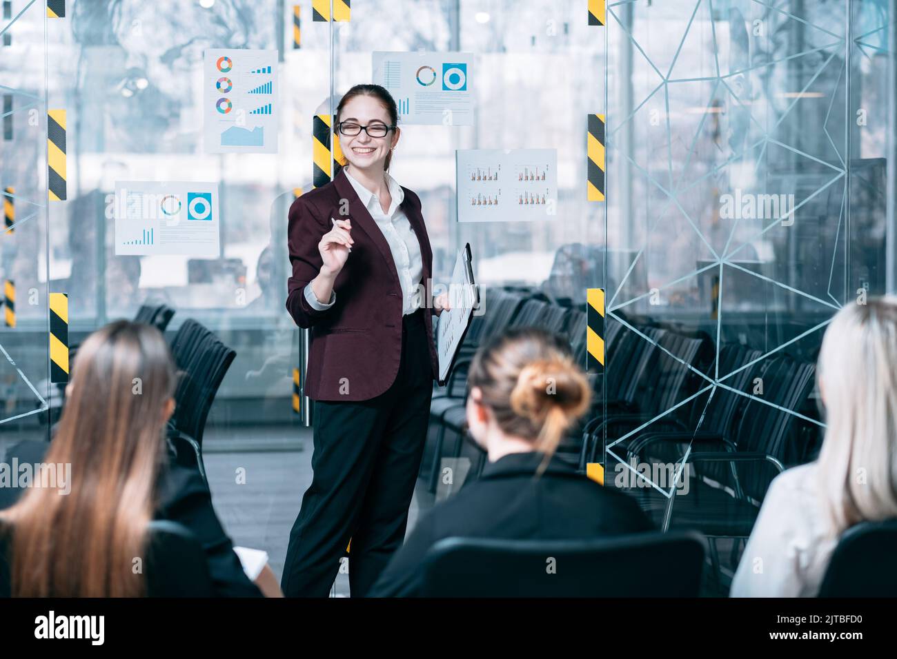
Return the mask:
POLYGON ((696 597, 697 533, 605 540, 447 538, 423 559, 429 597, 696 597))

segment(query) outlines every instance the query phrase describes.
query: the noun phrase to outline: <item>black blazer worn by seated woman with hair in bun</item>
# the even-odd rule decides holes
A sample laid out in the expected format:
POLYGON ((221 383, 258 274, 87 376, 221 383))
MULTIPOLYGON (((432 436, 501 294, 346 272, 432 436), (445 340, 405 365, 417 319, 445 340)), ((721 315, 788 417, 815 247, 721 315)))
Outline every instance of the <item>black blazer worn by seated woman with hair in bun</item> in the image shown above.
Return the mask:
POLYGON ((543 458, 535 452, 505 455, 487 464, 478 481, 433 507, 370 596, 420 596, 423 557, 444 538, 584 540, 655 530, 635 499, 588 480, 557 457, 534 478, 543 458))

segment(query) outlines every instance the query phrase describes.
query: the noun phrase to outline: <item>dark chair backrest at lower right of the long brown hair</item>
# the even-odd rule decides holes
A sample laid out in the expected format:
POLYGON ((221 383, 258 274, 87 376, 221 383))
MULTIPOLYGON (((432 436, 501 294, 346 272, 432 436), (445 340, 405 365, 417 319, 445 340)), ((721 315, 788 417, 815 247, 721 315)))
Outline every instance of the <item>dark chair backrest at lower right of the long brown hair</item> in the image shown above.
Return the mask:
POLYGON ((208 559, 193 533, 168 520, 153 520, 149 536, 144 574, 150 597, 214 596, 208 559))

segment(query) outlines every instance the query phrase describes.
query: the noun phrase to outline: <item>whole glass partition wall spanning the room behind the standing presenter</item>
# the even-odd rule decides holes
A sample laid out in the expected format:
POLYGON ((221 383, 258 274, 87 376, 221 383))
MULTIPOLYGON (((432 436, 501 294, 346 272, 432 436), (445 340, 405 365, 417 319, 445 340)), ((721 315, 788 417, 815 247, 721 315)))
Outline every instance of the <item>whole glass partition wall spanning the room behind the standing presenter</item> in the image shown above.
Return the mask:
MULTIPOLYGON (((4 2, 0 23, 15 316, 0 324, 0 440, 47 437, 54 419, 49 292, 68 294, 73 344, 165 303, 169 333, 196 318, 237 353, 206 467, 234 539, 269 548, 275 571, 310 478, 310 450, 295 457, 310 444, 283 304, 287 211, 313 186, 315 115, 371 82, 375 51, 472 54, 470 124, 400 121, 390 169, 421 197, 434 277, 448 282, 469 242, 486 290, 585 312, 586 290, 605 289, 606 367, 572 459, 602 465, 665 528, 706 522, 694 495, 726 492, 735 503, 702 529, 724 575, 771 476, 818 450, 813 364, 832 313, 897 285, 890 0, 608 0, 605 27, 585 0, 359 0, 335 22, 313 20, 310 0, 65 5, 48 18, 44 2, 4 2), (277 51, 276 152, 205 151, 208 48, 277 51), (66 110, 67 195, 48 202, 53 108, 66 110), (605 203, 586 194, 595 114, 605 203), (457 151, 524 148, 557 152, 553 214, 458 222, 457 151), (216 184, 218 253, 118 256, 122 181, 216 184), (712 446, 769 458, 702 461, 712 446), (281 457, 248 457, 266 452, 281 457)), ((567 329, 584 336, 585 314, 567 329)))

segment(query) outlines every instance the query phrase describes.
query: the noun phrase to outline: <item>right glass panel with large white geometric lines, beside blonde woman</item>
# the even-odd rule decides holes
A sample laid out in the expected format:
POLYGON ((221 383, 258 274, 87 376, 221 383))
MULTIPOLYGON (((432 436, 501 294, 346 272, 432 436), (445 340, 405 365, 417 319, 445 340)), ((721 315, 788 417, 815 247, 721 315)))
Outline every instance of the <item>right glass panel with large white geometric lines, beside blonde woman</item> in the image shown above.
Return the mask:
POLYGON ((893 290, 893 3, 612 2, 607 25, 606 391, 638 415, 599 441, 658 524, 710 537, 725 592, 771 478, 818 452, 832 314, 893 290))

